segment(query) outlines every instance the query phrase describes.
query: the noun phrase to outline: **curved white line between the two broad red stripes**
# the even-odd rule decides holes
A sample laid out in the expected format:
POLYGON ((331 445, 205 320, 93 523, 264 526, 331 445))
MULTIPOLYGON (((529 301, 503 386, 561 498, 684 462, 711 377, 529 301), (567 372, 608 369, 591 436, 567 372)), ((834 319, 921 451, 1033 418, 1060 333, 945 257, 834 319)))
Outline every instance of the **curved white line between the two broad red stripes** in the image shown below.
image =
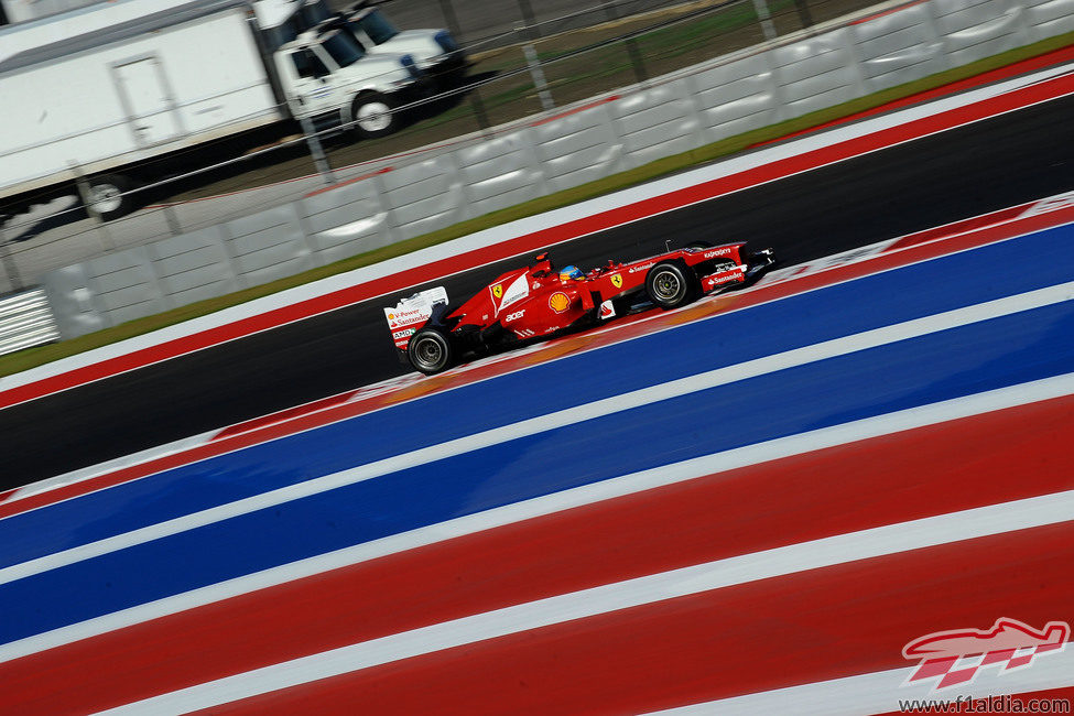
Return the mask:
POLYGON ((435 651, 758 579, 1074 519, 1074 490, 717 560, 372 639, 113 708, 181 714, 435 651))

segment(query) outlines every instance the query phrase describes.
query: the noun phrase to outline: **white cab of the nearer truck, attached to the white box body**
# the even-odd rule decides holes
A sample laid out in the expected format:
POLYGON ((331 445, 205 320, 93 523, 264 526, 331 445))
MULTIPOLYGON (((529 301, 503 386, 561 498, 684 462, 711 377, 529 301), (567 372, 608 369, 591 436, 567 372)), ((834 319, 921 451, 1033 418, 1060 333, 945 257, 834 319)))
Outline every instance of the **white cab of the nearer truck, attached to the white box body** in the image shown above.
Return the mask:
POLYGON ((365 137, 394 131, 400 122, 394 110, 427 91, 428 83, 412 56, 370 52, 371 46, 326 23, 273 53, 292 115, 355 122, 365 137))

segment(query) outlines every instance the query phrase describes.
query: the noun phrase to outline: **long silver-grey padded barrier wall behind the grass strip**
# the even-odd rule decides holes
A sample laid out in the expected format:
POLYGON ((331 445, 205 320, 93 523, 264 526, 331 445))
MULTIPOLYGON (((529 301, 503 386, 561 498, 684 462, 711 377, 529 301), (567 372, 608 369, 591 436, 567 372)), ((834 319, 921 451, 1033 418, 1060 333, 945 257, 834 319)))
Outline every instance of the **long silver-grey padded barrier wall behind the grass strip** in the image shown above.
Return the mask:
POLYGON ((227 224, 46 274, 64 337, 258 285, 1074 30, 1074 0, 929 0, 658 78, 227 224))

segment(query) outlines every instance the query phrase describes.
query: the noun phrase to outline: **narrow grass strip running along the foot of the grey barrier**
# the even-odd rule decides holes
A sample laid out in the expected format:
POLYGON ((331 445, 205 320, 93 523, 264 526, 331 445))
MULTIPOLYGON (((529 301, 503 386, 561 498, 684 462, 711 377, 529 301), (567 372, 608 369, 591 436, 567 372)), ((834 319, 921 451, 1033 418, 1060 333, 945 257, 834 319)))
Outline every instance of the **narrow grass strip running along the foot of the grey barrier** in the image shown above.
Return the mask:
POLYGON ((34 348, 26 348, 19 352, 0 356, 0 376, 17 373, 54 360, 59 360, 61 358, 67 358, 87 350, 93 350, 94 348, 100 348, 101 346, 118 343, 127 338, 141 336, 160 328, 175 325, 184 321, 189 321, 191 318, 205 316, 224 308, 229 308, 248 301, 253 301, 254 299, 261 299, 288 289, 304 285, 319 279, 344 273, 346 271, 352 271, 361 267, 371 265, 373 263, 379 263, 381 261, 403 256, 405 253, 411 253, 420 249, 436 246, 445 241, 451 241, 476 231, 481 231, 501 224, 513 221, 516 219, 521 219, 529 216, 534 216, 536 214, 542 214, 544 211, 550 211, 552 209, 569 206, 572 204, 577 204, 585 199, 610 194, 612 192, 636 186, 661 176, 666 176, 669 174, 682 172, 702 164, 707 164, 761 142, 777 140, 781 137, 880 107, 882 105, 887 105, 888 102, 897 101, 919 93, 935 89, 937 87, 950 85, 963 79, 968 79, 992 69, 998 69, 1023 59, 1029 59, 1031 57, 1060 50, 1072 43, 1074 43, 1074 32, 1042 40, 1032 45, 1010 50, 991 57, 978 59, 977 62, 968 65, 963 65, 962 67, 930 75, 927 77, 899 85, 898 87, 892 87, 867 97, 860 97, 835 107, 817 110, 795 119, 780 122, 779 124, 756 129, 744 134, 738 134, 712 144, 706 144, 705 147, 701 147, 698 149, 683 152, 681 154, 665 156, 664 159, 650 162, 649 164, 639 166, 637 169, 621 172, 612 176, 607 176, 595 182, 589 182, 588 184, 583 184, 574 188, 556 192, 555 194, 542 196, 540 198, 525 202, 524 204, 492 211, 491 214, 486 214, 484 216, 468 219, 443 229, 437 229, 436 231, 414 237, 412 239, 408 239, 406 241, 400 241, 399 243, 393 243, 375 251, 359 253, 348 259, 336 261, 335 263, 330 263, 325 267, 311 269, 285 279, 272 281, 270 283, 247 289, 245 291, 229 293, 216 299, 199 301, 197 303, 192 303, 189 305, 181 306, 178 308, 152 316, 129 321, 118 326, 87 334, 85 336, 79 336, 78 338, 73 338, 70 340, 37 346, 34 348))

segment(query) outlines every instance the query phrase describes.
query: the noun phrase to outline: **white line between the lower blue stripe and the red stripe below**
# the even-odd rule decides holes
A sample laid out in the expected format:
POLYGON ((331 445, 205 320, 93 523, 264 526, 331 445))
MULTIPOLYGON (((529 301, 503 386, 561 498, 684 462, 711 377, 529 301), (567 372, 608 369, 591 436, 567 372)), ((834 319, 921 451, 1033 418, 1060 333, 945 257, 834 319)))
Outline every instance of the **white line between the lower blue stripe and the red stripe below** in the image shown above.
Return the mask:
POLYGON ((0 646, 0 663, 352 564, 707 475, 1074 394, 1074 373, 705 455, 393 534, 0 646))

